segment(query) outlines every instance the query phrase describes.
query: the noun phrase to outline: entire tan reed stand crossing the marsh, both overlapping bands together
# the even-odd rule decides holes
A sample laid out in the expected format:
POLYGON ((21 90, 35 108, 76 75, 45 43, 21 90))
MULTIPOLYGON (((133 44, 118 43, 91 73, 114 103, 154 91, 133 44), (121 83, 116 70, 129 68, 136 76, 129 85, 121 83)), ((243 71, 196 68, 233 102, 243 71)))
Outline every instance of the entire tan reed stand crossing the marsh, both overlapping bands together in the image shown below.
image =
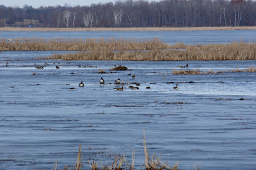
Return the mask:
POLYGON ((0 50, 80 50, 69 54, 54 54, 48 59, 63 60, 248 60, 256 59, 256 42, 227 44, 168 45, 159 38, 134 39, 40 39, 22 38, 12 41, 2 38, 0 50))

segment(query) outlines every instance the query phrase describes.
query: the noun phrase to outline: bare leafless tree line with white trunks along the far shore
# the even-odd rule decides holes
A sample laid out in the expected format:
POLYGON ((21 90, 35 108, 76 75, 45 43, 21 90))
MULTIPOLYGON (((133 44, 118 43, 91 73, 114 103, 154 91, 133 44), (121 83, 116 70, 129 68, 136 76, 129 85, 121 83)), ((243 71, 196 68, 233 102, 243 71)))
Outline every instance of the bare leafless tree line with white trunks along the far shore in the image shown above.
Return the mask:
POLYGON ((245 0, 125 0, 90 6, 0 5, 0 27, 255 26, 256 2, 245 0))

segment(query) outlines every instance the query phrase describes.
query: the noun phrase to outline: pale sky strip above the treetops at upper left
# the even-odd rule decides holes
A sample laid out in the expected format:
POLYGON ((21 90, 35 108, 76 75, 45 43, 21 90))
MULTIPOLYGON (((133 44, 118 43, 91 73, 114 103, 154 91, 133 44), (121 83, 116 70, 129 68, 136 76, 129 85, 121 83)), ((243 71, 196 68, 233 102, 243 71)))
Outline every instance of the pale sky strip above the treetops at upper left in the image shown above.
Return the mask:
MULTIPOLYGON (((3 4, 4 6, 19 6, 23 7, 24 4, 28 4, 28 6, 33 6, 35 8, 38 8, 40 6, 57 6, 61 5, 63 6, 64 4, 68 4, 70 6, 85 6, 92 3, 115 3, 116 0, 0 0, 0 4, 3 4)), ((153 1, 153 0, 147 0, 147 1, 153 1)), ((160 1, 160 0, 154 0, 154 1, 160 1)))

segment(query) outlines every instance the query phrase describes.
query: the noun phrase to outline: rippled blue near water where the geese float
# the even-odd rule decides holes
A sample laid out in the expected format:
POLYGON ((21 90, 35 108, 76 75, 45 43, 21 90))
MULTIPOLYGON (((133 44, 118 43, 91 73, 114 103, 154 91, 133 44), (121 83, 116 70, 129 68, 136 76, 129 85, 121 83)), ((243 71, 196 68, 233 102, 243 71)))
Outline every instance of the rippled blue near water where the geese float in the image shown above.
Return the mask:
POLYGON ((89 168, 87 159, 106 164, 113 154, 126 153, 131 164, 134 150, 136 169, 142 169, 143 128, 150 156, 161 154, 172 166, 179 161, 181 169, 255 169, 256 73, 230 73, 255 61, 35 59, 52 53, 0 52, 0 169, 52 169, 56 160, 59 169, 73 166, 79 144, 83 169, 89 168), (35 68, 45 62, 44 69, 35 68), (227 72, 172 75, 187 63, 227 72), (114 65, 131 71, 109 71, 114 65), (100 86, 100 77, 107 84, 100 86), (115 91, 118 78, 140 82, 140 89, 115 91), (173 90, 176 82, 179 89, 173 90))

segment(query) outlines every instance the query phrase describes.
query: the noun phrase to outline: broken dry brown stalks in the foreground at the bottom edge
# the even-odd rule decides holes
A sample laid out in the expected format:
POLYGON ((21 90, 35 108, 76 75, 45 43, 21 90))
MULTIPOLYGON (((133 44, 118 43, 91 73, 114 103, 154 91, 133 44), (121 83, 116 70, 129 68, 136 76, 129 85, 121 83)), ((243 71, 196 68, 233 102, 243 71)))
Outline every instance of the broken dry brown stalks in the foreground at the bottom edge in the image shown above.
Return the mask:
MULTIPOLYGON (((169 170, 178 170, 178 164, 179 161, 172 167, 168 165, 168 162, 162 162, 161 161, 161 155, 159 157, 155 158, 155 153, 150 158, 147 150, 147 144, 146 144, 146 138, 145 138, 145 130, 143 129, 143 134, 144 134, 144 139, 143 139, 143 148, 144 148, 144 153, 145 153, 145 169, 147 170, 156 170, 156 169, 169 169, 169 170)), ((77 154, 77 163, 74 166, 76 170, 81 170, 83 166, 82 162, 82 157, 81 155, 81 144, 79 144, 79 152, 77 154)), ((92 170, 122 170, 122 169, 129 169, 133 170, 134 169, 134 161, 135 161, 135 151, 132 151, 132 164, 128 164, 125 155, 114 155, 114 160, 111 162, 109 165, 108 163, 102 164, 100 161, 97 162, 95 160, 92 160, 92 162, 88 159, 88 164, 90 165, 92 170)), ((57 160, 52 168, 52 170, 57 169, 57 160)), ((65 170, 68 170, 68 166, 64 167, 65 170)))

